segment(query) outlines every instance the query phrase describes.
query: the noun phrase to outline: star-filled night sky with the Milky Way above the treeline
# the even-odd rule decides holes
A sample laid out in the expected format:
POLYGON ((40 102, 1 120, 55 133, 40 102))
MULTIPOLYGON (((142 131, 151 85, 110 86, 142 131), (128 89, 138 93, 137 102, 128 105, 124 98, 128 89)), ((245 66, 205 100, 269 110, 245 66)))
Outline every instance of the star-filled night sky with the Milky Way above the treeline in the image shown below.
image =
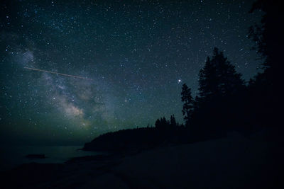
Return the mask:
POLYGON ((171 114, 182 122, 181 86, 196 95, 214 47, 246 81, 258 71, 252 3, 1 1, 1 141, 83 143, 171 114))

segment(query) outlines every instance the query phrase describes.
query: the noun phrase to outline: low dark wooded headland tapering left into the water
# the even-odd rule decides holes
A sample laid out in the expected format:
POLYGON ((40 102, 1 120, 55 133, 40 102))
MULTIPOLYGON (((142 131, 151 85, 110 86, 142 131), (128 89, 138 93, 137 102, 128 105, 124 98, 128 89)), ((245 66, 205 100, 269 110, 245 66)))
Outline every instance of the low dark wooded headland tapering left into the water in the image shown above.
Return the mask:
POLYGON ((185 127, 141 127, 129 130, 108 132, 84 144, 84 150, 90 151, 140 151, 167 145, 169 143, 188 142, 185 127))

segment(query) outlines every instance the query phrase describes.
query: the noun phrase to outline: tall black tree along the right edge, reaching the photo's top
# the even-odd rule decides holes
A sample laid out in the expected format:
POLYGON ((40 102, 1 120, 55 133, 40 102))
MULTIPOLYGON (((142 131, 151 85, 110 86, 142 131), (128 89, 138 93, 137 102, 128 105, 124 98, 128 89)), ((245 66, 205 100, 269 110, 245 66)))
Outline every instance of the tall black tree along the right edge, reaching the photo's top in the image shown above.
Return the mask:
POLYGON ((256 50, 263 58, 263 72, 249 82, 249 105, 256 118, 253 122, 263 126, 277 126, 281 122, 283 104, 282 75, 284 25, 282 1, 258 0, 252 8, 262 11, 261 23, 249 28, 249 38, 256 42, 256 50), (281 16, 282 15, 282 16, 281 16))

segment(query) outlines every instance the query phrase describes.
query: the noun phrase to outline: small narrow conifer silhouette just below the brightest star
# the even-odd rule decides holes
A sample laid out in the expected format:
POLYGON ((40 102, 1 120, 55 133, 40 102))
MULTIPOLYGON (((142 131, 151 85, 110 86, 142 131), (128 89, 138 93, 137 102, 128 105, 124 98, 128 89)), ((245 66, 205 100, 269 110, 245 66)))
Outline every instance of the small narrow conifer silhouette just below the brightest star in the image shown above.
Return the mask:
POLYGON ((184 115, 183 119, 185 122, 188 122, 191 118, 191 113, 193 110, 194 100, 191 95, 191 88, 188 88, 186 84, 182 85, 182 115, 184 115))

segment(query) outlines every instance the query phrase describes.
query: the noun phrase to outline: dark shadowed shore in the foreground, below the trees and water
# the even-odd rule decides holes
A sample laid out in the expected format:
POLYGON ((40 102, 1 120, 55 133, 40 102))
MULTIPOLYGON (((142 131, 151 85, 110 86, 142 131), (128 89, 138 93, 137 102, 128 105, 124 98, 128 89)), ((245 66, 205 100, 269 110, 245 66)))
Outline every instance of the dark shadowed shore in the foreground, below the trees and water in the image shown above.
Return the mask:
POLYGON ((24 164, 4 188, 283 188, 282 143, 229 135, 65 164, 24 164))

